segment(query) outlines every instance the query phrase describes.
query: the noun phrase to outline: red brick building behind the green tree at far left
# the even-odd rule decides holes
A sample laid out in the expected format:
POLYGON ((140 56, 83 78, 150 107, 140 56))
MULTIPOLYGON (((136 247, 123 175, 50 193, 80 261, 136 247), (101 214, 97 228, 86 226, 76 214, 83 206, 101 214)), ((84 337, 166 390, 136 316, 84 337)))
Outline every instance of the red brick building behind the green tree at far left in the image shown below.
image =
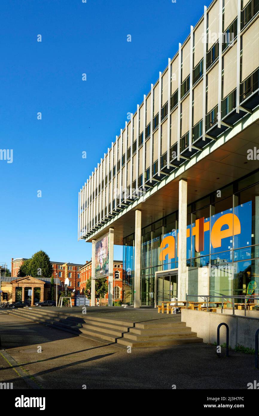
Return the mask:
MULTIPOLYGON (((25 262, 25 258, 12 258, 11 262, 11 276, 17 277, 17 273, 21 267, 21 265, 25 262)), ((58 277, 61 284, 65 282, 65 267, 63 267, 65 262, 54 262, 51 261, 52 267, 53 267, 53 273, 52 276, 54 278, 58 277)), ((67 277, 69 278, 70 284, 69 284, 69 290, 76 290, 75 295, 80 294, 80 272, 79 269, 83 266, 82 264, 76 264, 76 263, 68 263, 67 264, 67 277)), ((40 279, 41 276, 39 276, 40 279)), ((44 276, 43 276, 44 277, 44 276)))

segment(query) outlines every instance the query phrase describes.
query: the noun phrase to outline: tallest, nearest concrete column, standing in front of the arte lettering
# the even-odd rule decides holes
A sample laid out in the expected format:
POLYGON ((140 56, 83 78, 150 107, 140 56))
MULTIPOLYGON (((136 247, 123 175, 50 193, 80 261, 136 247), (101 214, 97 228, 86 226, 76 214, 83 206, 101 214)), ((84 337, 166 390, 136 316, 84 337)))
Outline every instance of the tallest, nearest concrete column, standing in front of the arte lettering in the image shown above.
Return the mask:
POLYGON ((187 181, 179 181, 178 300, 186 299, 187 181))

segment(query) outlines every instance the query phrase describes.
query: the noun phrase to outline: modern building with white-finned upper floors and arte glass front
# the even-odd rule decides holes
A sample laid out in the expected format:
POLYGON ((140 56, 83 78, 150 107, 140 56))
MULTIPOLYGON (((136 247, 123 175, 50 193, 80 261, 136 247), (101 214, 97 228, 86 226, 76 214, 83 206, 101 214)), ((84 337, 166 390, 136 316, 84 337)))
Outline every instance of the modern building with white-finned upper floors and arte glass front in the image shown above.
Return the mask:
POLYGON ((259 0, 214 0, 79 192, 123 297, 259 293, 259 0), (251 289, 252 288, 252 289, 251 289))

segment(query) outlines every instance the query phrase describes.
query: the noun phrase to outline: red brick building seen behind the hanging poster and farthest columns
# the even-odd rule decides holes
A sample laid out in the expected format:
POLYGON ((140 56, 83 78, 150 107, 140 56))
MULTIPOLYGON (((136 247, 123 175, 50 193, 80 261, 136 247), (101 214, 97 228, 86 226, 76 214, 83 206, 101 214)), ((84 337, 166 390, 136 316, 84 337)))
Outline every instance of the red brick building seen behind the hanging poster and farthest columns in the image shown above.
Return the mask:
MULTIPOLYGON (((91 277, 92 263, 91 260, 86 262, 80 269, 80 294, 83 295, 83 289, 86 287, 86 282, 91 277)), ((113 299, 122 300, 122 272, 123 264, 122 260, 113 261, 113 299)), ((108 277, 107 277, 108 283, 108 277)), ((104 298, 104 302, 108 302, 108 293, 104 298)))

